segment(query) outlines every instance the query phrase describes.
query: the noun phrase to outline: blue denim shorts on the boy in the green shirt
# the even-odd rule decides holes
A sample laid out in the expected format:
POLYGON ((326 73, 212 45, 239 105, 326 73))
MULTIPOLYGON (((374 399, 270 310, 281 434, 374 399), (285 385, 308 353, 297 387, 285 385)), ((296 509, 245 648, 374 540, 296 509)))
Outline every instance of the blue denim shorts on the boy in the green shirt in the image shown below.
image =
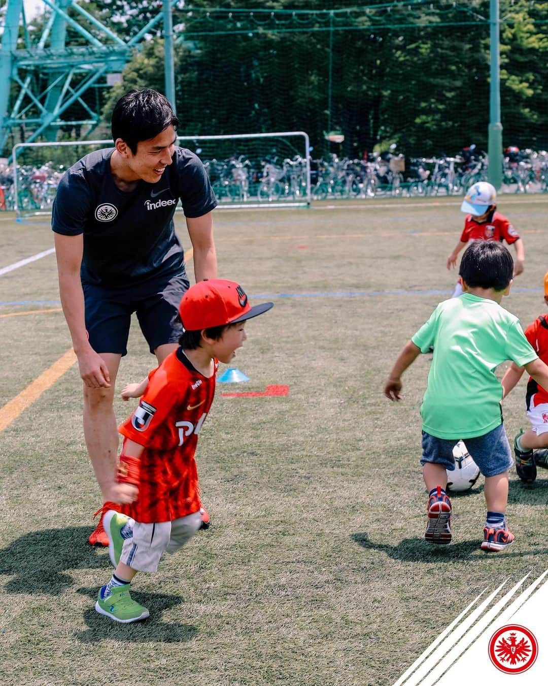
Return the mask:
MULTIPOLYGON (((463 438, 462 440, 464 440, 466 448, 484 476, 496 476, 510 469, 514 464, 503 424, 483 436, 463 438)), ((453 447, 457 442, 454 438, 436 438, 436 436, 430 436, 426 431, 423 431, 421 464, 424 465, 425 462, 443 464, 445 469, 453 471, 455 469, 453 447)))

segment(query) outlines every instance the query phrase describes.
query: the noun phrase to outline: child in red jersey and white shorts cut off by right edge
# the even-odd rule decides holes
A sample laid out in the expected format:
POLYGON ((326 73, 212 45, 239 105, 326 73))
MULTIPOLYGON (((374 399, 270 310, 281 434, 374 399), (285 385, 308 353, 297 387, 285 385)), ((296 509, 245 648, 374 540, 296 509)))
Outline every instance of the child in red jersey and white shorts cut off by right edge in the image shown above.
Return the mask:
MULTIPOLYGON (((548 305, 548 272, 544 277, 544 300, 548 305)), ((541 314, 523 332, 543 362, 548 363, 548 314, 541 314)), ((504 397, 521 379, 523 367, 512 362, 502 379, 504 397)), ((548 392, 534 379, 527 381, 525 407, 531 428, 521 429, 514 438, 516 472, 519 478, 532 484, 537 466, 548 467, 548 392)))

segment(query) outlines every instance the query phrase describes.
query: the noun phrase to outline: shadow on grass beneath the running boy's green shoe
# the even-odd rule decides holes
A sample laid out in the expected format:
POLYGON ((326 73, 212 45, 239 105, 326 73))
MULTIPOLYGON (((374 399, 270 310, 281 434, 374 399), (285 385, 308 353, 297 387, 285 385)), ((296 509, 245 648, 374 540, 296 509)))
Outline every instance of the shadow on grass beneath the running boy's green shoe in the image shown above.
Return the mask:
MULTIPOLYGON (((97 600, 97 589, 78 589, 77 593, 88 595, 93 602, 97 600)), ((84 622, 88 629, 75 635, 82 643, 100 643, 101 641, 127 641, 129 643, 186 643, 198 633, 192 624, 164 624, 158 621, 164 610, 182 602, 176 595, 160 593, 138 593, 132 591, 132 598, 145 605, 150 617, 145 622, 118 624, 112 619, 99 615, 90 607, 84 612, 84 622)))

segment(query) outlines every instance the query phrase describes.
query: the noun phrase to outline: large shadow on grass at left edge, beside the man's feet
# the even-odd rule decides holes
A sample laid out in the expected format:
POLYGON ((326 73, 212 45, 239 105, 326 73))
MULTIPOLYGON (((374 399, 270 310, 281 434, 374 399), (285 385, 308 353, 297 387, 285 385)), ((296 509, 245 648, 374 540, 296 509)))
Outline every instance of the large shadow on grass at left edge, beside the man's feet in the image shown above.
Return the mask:
POLYGON ((105 555, 88 545, 89 527, 32 531, 0 549, 0 574, 13 576, 6 593, 60 595, 73 586, 64 569, 108 569, 105 555))

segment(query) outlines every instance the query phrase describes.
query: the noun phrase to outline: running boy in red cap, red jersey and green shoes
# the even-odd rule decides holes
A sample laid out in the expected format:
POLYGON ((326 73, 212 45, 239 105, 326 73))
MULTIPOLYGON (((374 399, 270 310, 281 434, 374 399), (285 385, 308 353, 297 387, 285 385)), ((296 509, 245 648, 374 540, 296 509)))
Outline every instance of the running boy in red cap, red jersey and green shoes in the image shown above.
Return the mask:
POLYGON ((138 571, 156 571, 165 551, 175 552, 201 528, 194 454, 213 401, 215 373, 246 340, 246 320, 271 307, 251 307, 234 281, 199 281, 179 305, 179 348, 147 379, 124 389, 125 398, 142 397, 119 427, 125 438, 117 481, 129 504, 105 514, 116 569, 99 591, 95 609, 101 615, 124 624, 146 619, 149 611, 132 600, 129 584, 138 571))

